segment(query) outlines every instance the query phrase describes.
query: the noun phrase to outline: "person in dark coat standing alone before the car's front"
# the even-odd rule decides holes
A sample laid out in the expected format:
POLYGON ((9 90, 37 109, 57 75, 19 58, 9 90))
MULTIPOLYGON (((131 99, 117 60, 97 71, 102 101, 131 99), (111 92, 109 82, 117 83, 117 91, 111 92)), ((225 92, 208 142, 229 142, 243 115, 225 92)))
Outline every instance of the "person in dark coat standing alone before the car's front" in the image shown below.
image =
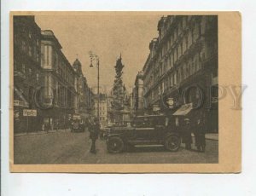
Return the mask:
POLYGON ((96 118, 89 118, 88 130, 90 132, 90 153, 96 153, 96 139, 98 139, 99 134, 99 123, 96 118))

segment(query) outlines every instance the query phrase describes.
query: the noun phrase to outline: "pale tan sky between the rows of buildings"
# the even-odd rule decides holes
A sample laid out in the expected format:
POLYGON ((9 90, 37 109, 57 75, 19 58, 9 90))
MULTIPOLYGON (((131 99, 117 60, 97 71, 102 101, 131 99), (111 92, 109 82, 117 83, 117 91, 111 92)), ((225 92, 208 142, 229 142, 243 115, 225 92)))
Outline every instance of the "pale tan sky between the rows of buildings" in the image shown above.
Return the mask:
MULTIPOLYGON (((158 36, 157 14, 87 14, 36 15, 42 30, 52 30, 62 46, 62 52, 73 64, 76 55, 82 63, 90 87, 96 86, 96 67, 90 68, 89 51, 100 57, 100 84, 113 86, 113 66, 122 53, 125 65, 123 81, 131 92, 137 72, 147 60, 148 44, 158 36)), ((104 88, 104 87, 103 87, 104 88)))

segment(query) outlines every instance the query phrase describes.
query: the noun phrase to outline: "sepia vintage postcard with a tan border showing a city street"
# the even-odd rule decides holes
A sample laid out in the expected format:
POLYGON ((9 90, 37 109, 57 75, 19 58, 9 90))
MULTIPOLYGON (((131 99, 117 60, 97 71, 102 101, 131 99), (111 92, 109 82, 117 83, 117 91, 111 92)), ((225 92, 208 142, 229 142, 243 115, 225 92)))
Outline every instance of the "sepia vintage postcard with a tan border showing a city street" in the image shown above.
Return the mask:
POLYGON ((11 12, 10 171, 241 171, 239 12, 11 12))

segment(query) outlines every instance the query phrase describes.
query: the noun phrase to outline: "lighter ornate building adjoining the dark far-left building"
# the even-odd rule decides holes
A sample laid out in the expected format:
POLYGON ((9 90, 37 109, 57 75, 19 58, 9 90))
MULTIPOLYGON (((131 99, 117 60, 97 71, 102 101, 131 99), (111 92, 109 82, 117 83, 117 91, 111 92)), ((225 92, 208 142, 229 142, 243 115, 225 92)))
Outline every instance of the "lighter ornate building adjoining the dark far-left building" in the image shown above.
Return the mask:
POLYGON ((50 30, 41 32, 41 66, 44 70, 44 125, 46 129, 67 128, 78 112, 79 75, 61 51, 61 43, 50 30))

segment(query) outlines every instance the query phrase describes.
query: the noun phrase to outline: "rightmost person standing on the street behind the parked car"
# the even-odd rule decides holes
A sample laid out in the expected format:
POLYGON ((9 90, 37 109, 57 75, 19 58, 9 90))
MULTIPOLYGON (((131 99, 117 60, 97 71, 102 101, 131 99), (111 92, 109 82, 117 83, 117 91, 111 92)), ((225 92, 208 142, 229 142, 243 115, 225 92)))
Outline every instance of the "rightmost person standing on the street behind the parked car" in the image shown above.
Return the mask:
POLYGON ((206 133, 201 118, 197 119, 194 129, 195 146, 199 152, 205 152, 206 149, 206 133))

